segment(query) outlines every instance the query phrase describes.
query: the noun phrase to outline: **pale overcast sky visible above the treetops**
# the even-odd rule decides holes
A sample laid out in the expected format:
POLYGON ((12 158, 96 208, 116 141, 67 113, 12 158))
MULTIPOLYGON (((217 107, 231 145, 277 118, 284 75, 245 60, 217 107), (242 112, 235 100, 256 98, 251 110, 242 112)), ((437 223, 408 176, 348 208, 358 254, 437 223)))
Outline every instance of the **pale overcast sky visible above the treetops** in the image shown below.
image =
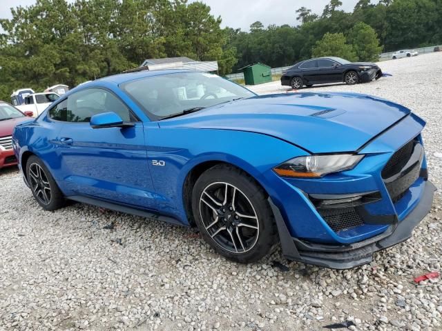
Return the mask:
MULTIPOLYGON (((189 2, 196 0, 189 0, 189 2)), ((302 6, 322 14, 329 0, 198 0, 211 6, 215 17, 222 17, 222 26, 249 30, 251 23, 296 25, 296 10, 302 6)), ((357 0, 341 0, 342 9, 352 11, 357 0)), ((10 18, 10 8, 29 6, 35 0, 0 0, 0 18, 10 18)))

